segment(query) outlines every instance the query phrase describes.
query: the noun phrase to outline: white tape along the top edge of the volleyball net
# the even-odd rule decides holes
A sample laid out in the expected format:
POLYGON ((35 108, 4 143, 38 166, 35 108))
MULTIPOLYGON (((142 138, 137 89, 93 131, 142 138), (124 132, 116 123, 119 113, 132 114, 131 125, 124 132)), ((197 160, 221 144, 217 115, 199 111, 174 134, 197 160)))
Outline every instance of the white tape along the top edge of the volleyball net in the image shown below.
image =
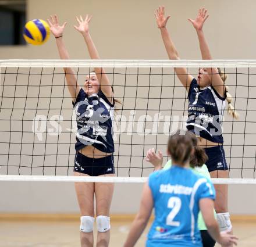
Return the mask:
POLYGON ((0 67, 106 67, 106 68, 150 68, 150 67, 256 67, 256 60, 0 60, 0 67))

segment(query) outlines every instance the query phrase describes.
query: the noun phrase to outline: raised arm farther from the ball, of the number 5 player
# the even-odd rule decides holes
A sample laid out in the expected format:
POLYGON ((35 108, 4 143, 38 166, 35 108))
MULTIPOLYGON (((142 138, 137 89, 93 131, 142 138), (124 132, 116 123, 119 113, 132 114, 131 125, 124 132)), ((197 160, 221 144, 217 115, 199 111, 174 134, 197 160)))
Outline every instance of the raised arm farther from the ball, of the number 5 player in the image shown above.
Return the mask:
MULTIPOLYGON (((88 15, 86 15, 85 19, 83 19, 82 16, 76 17, 76 20, 78 22, 78 26, 74 26, 74 28, 76 28, 76 30, 83 35, 84 41, 86 41, 86 45, 87 45, 88 52, 90 54, 91 59, 99 59, 98 51, 89 33, 89 23, 91 21, 91 16, 89 17, 88 15)), ((113 102, 113 90, 108 80, 108 76, 106 75, 105 69, 103 68, 94 68, 94 69, 95 69, 95 73, 97 75, 98 81, 101 84, 101 91, 109 99, 109 102, 113 102)))

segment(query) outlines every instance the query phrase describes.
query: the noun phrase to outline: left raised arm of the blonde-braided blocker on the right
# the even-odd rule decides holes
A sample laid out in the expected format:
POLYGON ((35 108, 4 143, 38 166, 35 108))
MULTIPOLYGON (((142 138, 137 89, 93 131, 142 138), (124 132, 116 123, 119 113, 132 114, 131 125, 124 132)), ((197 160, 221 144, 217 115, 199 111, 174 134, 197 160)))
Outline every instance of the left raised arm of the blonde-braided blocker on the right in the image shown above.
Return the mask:
MULTIPOLYGON (((165 7, 160 6, 155 12, 155 18, 157 19, 157 26, 161 31, 163 44, 165 45, 166 52, 168 53, 169 59, 180 59, 179 54, 173 44, 172 39, 166 28, 166 24, 170 16, 165 17, 165 7)), ((175 68, 175 72, 180 82, 187 90, 189 90, 190 83, 193 80, 193 77, 190 74, 187 74, 186 68, 175 68)))

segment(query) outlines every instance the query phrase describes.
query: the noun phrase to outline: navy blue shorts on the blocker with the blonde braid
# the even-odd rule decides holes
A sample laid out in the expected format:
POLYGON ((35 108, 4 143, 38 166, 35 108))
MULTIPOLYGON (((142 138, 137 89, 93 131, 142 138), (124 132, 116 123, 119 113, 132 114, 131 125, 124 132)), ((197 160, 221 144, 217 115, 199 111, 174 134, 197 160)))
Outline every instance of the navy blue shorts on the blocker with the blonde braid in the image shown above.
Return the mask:
POLYGON ((216 170, 229 170, 225 158, 225 151, 222 145, 205 148, 204 151, 208 156, 208 160, 205 164, 207 165, 209 172, 216 170))

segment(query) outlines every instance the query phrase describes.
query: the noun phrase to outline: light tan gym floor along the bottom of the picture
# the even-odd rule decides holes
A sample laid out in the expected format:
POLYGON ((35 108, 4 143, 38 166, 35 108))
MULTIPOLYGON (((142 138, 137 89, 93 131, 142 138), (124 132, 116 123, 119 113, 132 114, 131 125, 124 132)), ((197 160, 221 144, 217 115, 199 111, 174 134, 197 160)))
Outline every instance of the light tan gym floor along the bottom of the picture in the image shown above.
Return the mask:
MULTIPOLYGON (((131 221, 112 221, 111 247, 120 247, 125 242, 131 221)), ((240 247, 256 246, 256 222, 234 221, 234 232, 239 237, 240 247)), ((137 247, 145 246, 147 229, 137 242, 137 247)), ((96 229, 95 229, 96 230, 96 229)), ((95 231, 96 232, 96 231, 95 231)), ((96 237, 96 236, 95 236, 96 237)), ((78 247, 79 221, 31 221, 0 220, 0 247, 78 247)), ((215 245, 219 247, 219 245, 215 245)))

